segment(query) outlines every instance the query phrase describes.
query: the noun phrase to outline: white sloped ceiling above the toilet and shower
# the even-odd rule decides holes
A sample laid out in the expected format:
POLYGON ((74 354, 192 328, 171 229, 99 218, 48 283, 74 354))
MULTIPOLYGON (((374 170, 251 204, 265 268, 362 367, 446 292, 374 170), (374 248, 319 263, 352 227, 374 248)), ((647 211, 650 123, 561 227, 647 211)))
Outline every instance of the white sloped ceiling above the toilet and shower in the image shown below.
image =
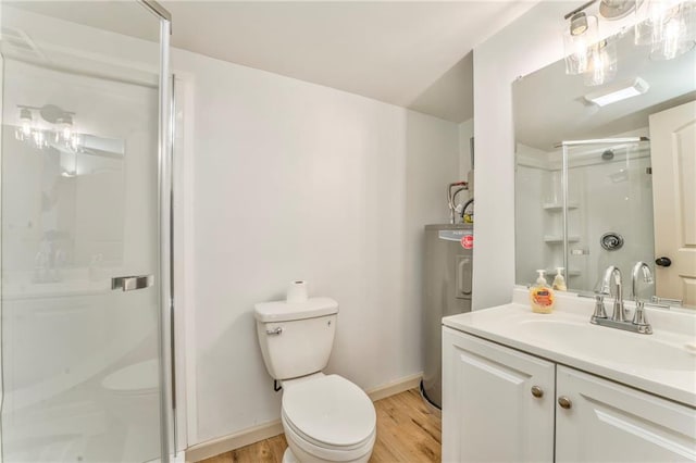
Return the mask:
MULTIPOLYGON (((173 47, 459 123, 473 117, 471 50, 536 2, 161 3, 172 13, 173 47)), ((133 3, 13 4, 136 37, 156 30, 133 3)))

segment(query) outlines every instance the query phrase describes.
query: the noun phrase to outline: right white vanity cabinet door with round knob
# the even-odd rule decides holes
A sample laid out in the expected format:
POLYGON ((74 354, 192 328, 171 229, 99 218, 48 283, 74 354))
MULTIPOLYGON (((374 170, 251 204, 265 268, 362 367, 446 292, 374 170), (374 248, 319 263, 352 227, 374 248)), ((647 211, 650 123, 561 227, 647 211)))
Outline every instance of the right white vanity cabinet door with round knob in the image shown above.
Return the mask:
POLYGON ((696 460, 694 409, 564 366, 556 387, 558 462, 696 460))

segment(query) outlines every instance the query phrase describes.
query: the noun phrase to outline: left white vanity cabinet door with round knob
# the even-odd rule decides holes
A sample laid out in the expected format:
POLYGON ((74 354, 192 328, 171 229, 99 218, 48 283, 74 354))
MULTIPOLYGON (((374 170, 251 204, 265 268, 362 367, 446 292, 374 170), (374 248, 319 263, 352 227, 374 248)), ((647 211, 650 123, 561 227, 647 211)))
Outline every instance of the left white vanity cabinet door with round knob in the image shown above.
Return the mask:
POLYGON ((443 461, 552 461, 554 385, 552 363, 443 328, 443 461))

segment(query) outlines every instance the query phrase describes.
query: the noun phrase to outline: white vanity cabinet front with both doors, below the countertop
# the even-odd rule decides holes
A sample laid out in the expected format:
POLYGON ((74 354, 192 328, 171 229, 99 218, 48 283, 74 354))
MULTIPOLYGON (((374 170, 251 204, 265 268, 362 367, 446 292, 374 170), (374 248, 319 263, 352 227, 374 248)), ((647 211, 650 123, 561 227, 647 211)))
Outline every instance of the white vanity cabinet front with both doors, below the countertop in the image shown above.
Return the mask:
POLYGON ((444 462, 696 461, 696 410, 443 331, 444 462))

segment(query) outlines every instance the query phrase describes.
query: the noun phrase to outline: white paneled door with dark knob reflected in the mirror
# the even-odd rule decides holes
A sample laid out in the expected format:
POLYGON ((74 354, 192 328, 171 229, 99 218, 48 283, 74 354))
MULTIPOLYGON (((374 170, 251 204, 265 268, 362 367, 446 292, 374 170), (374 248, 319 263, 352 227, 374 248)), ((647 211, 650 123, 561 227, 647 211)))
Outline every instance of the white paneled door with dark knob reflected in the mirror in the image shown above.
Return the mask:
POLYGON ((696 101, 650 115, 656 295, 696 306, 696 101))

